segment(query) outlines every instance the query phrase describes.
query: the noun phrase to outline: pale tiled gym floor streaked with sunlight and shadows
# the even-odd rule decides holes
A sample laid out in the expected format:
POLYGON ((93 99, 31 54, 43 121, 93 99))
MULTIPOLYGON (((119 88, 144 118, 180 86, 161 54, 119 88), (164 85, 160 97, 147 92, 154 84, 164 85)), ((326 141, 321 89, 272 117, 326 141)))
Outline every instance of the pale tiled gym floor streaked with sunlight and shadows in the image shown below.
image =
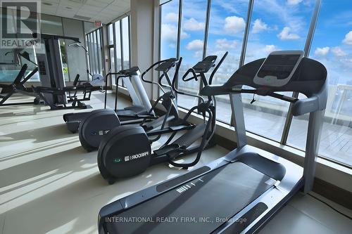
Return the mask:
MULTIPOLYGON (((101 93, 94 94, 90 104, 100 108, 101 100, 101 93)), ((0 108, 0 233, 97 233, 97 214, 103 205, 186 172, 160 164, 108 186, 96 167, 96 152, 85 152, 77 134, 65 128, 62 115, 68 111, 48 109, 0 108)), ((226 152, 221 147, 206 150, 199 165, 226 152)), ((351 220, 298 194, 260 233, 351 230, 351 220)))

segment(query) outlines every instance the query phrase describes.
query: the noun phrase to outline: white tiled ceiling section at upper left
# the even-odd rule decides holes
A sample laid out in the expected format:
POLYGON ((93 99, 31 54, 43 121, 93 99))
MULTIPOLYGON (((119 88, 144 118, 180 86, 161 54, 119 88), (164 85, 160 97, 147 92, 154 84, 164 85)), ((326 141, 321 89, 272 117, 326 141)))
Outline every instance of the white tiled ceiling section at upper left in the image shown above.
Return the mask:
POLYGON ((44 14, 108 23, 130 11, 130 0, 42 0, 41 7, 44 14))

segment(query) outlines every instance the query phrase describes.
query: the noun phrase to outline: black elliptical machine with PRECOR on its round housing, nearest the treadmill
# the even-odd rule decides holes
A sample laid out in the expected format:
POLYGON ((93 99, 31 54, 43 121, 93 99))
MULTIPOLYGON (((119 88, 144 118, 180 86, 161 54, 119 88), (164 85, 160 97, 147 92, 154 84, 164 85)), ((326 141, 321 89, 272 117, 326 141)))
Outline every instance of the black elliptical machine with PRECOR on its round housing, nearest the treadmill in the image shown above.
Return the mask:
MULTIPOLYGON (((206 72, 215 66, 217 56, 208 56, 201 62, 191 67, 182 77, 184 82, 192 79, 201 78, 204 85, 211 84, 215 72, 218 70, 227 53, 222 57, 218 65, 210 74, 209 82, 206 80, 206 72), (191 77, 187 78, 189 74, 191 77)), ((172 88, 175 93, 181 95, 192 96, 202 100, 199 105, 194 106, 187 114, 179 120, 183 124, 187 124, 187 119, 192 112, 197 110, 203 116, 203 123, 194 125, 191 129, 187 129, 181 136, 172 141, 178 131, 172 131, 173 126, 163 129, 164 134, 170 134, 165 143, 151 152, 150 137, 153 131, 146 132, 142 126, 126 125, 112 129, 103 137, 99 145, 98 167, 106 181, 109 184, 115 182, 118 178, 125 178, 141 174, 148 167, 161 162, 167 162, 174 167, 182 167, 187 169, 196 165, 200 158, 201 152, 208 146, 210 139, 215 133, 215 98, 208 96, 208 100, 204 100, 202 96, 191 93, 184 93, 175 87, 177 77, 172 80, 172 88), (172 141, 172 142, 171 142, 172 141), (200 143, 198 143, 200 141, 200 143), (175 160, 184 155, 196 152, 196 158, 192 162, 179 163, 175 160)), ((159 131, 158 136, 161 132, 159 131)))

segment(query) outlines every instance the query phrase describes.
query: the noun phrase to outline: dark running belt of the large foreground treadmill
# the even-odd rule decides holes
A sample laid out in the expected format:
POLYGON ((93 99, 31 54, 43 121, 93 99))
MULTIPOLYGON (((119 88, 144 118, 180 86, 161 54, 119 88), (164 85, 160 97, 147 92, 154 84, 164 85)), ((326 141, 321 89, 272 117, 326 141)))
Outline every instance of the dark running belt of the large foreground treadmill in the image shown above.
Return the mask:
POLYGON ((109 233, 211 233, 275 184, 234 162, 127 209, 106 223, 109 233))

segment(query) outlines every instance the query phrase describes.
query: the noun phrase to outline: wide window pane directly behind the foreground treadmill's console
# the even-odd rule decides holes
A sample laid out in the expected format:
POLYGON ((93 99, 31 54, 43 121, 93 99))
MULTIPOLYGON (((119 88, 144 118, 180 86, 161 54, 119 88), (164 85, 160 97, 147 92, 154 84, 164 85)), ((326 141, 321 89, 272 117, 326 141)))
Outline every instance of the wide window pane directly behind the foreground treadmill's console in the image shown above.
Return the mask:
MULTIPOLYGON (((275 50, 303 50, 314 6, 315 1, 254 1, 245 63, 265 58, 275 50)), ((280 141, 289 103, 255 96, 251 104, 253 95, 241 96, 246 129, 280 141)))

